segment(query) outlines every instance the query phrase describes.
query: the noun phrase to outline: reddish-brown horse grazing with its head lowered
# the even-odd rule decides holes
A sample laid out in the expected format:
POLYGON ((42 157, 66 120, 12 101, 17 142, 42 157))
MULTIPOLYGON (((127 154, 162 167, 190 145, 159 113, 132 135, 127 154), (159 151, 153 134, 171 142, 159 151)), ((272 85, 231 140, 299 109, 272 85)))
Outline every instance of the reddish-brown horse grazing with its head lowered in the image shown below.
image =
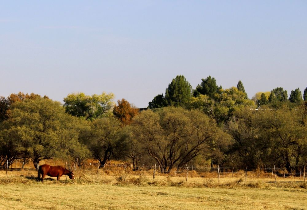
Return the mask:
POLYGON ((49 166, 47 164, 39 166, 37 174, 38 180, 43 182, 46 175, 56 177, 57 181, 60 180, 62 175, 68 175, 70 179, 74 179, 74 174, 62 166, 49 166))

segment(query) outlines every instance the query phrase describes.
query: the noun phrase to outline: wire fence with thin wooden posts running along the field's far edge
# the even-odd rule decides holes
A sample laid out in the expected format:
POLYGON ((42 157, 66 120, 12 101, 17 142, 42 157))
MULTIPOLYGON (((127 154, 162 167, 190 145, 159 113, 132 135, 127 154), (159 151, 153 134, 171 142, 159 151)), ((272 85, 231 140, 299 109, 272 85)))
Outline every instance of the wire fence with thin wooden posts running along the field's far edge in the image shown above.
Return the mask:
MULTIPOLYGON (((74 165, 72 163, 67 163, 63 161, 41 161, 37 165, 42 164, 49 164, 52 166, 61 165, 63 167, 67 167, 70 170, 76 170, 77 169, 84 169, 84 170, 103 170, 103 172, 119 172, 119 171, 143 171, 143 172, 149 172, 156 171, 157 174, 165 173, 170 175, 185 175, 188 172, 191 174, 191 176, 198 176, 198 177, 209 177, 209 176, 215 176, 216 174, 224 177, 234 177, 234 174, 253 174, 253 176, 258 177, 305 177, 305 167, 303 168, 292 168, 291 170, 288 170, 284 167, 209 167, 209 166, 194 166, 194 165, 186 165, 185 167, 163 167, 161 169, 160 166, 148 166, 145 164, 142 164, 139 166, 136 170, 136 168, 133 167, 132 163, 120 163, 120 164, 111 164, 110 162, 105 164, 103 167, 98 162, 90 162, 90 163, 83 163, 82 165, 74 165)), ((21 161, 14 161, 14 162, 8 162, 2 163, 0 165, 0 170, 4 171, 18 171, 18 170, 37 170, 37 166, 34 166, 32 162, 21 162, 21 161)))

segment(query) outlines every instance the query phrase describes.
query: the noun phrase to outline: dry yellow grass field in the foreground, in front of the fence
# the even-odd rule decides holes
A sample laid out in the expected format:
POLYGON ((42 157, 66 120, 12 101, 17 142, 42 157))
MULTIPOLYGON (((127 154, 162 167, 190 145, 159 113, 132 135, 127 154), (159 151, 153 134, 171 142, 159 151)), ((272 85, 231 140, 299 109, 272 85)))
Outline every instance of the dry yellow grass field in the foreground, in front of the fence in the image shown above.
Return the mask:
POLYGON ((75 180, 36 181, 36 171, 0 171, 0 209, 307 209, 307 185, 288 177, 166 177, 102 170, 75 180))

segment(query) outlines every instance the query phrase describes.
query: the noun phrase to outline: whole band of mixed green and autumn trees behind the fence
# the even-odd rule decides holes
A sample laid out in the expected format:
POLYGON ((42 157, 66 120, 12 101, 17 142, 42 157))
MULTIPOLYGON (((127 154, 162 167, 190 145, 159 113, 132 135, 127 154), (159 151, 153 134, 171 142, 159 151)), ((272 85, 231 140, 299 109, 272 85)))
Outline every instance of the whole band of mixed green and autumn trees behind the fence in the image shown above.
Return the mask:
POLYGON ((307 88, 283 88, 249 99, 242 81, 223 89, 214 77, 195 89, 178 75, 140 111, 114 94, 68 94, 64 104, 38 94, 0 97, 0 165, 60 158, 157 164, 286 167, 307 163, 307 88))

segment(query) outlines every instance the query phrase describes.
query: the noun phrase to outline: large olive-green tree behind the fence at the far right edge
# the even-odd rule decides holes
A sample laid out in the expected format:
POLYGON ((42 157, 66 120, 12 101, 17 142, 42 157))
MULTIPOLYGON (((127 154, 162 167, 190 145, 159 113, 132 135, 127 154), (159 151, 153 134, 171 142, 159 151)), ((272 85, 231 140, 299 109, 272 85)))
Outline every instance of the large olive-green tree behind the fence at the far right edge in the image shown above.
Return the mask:
POLYGON ((306 125, 302 124, 303 109, 290 109, 283 106, 276 111, 266 111, 259 119, 261 128, 265 131, 264 139, 271 144, 270 150, 279 166, 293 170, 305 163, 301 162, 306 155, 304 148, 307 143, 306 125))

